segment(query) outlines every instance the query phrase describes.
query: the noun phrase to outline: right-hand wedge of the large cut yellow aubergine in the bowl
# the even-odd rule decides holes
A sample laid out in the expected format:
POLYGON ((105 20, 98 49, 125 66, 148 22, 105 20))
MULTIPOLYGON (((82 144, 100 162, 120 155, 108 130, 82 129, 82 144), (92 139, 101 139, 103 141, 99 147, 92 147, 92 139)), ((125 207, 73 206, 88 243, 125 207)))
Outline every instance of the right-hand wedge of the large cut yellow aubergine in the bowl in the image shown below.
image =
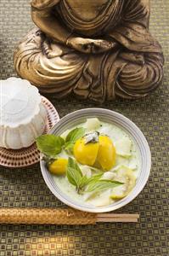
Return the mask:
POLYGON ((99 136, 97 161, 104 171, 109 171, 115 166, 115 146, 110 137, 99 136))

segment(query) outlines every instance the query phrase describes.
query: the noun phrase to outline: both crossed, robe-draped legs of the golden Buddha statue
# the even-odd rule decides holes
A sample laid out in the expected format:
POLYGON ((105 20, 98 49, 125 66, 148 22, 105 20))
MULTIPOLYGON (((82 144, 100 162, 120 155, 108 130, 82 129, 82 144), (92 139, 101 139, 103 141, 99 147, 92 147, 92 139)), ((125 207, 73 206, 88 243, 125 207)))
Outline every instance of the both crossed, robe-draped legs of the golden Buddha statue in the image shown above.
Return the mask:
POLYGON ((125 52, 119 44, 102 54, 82 54, 50 42, 37 28, 15 50, 14 62, 20 77, 43 93, 60 98, 74 92, 95 102, 146 96, 163 75, 161 53, 125 52))

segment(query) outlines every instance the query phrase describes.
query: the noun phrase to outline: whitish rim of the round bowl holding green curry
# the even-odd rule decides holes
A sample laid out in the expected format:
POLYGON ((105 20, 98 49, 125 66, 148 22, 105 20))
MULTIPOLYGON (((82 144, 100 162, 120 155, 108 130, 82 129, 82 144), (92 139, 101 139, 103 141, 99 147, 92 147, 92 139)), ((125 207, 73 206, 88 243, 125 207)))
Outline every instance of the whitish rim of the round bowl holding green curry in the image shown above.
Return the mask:
MULTIPOLYGON (((144 151, 145 151, 144 157, 146 158, 147 161, 146 161, 146 169, 144 172, 144 181, 139 185, 139 187, 137 187, 137 184, 136 184, 134 189, 132 189, 131 193, 129 195, 127 195, 123 200, 117 201, 119 203, 117 203, 116 205, 115 205, 115 203, 113 203, 107 207, 86 207, 86 206, 78 205, 76 202, 70 201, 70 197, 66 196, 63 192, 60 191, 60 189, 59 189, 60 193, 57 192, 56 188, 54 187, 54 185, 48 178, 49 172, 45 166, 44 161, 42 161, 42 160, 40 161, 40 166, 41 166, 41 171, 42 171, 42 177, 44 178, 44 181, 47 184, 48 189, 51 190, 51 192, 59 199, 59 201, 64 202, 65 205, 67 205, 69 207, 73 207, 80 211, 84 211, 84 212, 95 212, 95 213, 96 212, 111 212, 111 211, 115 211, 116 209, 126 206, 128 203, 130 203, 132 200, 134 200, 138 196, 138 194, 144 189, 144 186, 149 179, 149 173, 150 173, 150 168, 151 168, 151 153, 150 153, 150 149, 149 149, 149 144, 148 144, 146 138, 144 137, 143 132, 138 128, 138 126, 135 125, 132 122, 132 120, 128 119, 126 116, 122 115, 121 113, 117 113, 115 111, 112 111, 112 110, 106 109, 106 108, 82 108, 82 109, 76 110, 72 113, 68 113, 62 119, 59 119, 59 122, 56 125, 54 125, 54 127, 51 129, 51 131, 49 131, 49 133, 54 134, 54 131, 56 130, 56 128, 59 128, 60 125, 64 125, 64 123, 65 123, 65 121, 67 121, 67 119, 74 118, 76 116, 76 114, 78 114, 78 113, 81 113, 81 114, 87 113, 87 114, 92 115, 94 112, 98 113, 97 114, 98 118, 99 118, 99 114, 102 113, 103 115, 105 115, 105 117, 106 117, 106 114, 108 114, 111 117, 114 117, 121 121, 124 121, 124 123, 126 122, 132 128, 133 131, 136 131, 136 134, 138 134, 138 137, 140 137, 140 142, 142 142, 143 146, 144 146, 144 151), (136 190, 136 187, 137 187, 137 192, 134 193, 134 191, 136 190)), ((126 131, 127 131, 127 128, 126 128, 126 131)), ((138 181, 139 181, 139 178, 138 178, 138 181)), ((56 184, 55 184, 55 186, 56 186, 56 184)))

